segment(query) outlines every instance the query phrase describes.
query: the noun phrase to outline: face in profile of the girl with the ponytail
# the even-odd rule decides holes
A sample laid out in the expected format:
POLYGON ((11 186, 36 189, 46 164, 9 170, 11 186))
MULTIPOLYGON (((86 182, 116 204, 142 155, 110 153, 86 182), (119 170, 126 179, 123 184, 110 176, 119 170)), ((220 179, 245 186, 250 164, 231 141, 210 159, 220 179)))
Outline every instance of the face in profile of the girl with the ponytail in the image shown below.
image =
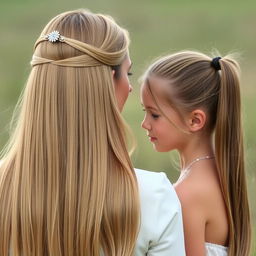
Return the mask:
MULTIPOLYGON (((153 93, 159 95, 158 91, 161 90, 162 86, 165 86, 164 83, 166 81, 162 79, 151 79, 150 84, 151 88, 154 88, 153 93)), ((184 150, 187 135, 184 133, 184 130, 186 130, 184 122, 182 122, 178 113, 168 103, 165 103, 165 99, 155 98, 161 111, 159 111, 148 85, 144 84, 141 88, 141 100, 145 111, 144 120, 141 124, 142 128, 147 130, 147 135, 156 151, 184 150)))

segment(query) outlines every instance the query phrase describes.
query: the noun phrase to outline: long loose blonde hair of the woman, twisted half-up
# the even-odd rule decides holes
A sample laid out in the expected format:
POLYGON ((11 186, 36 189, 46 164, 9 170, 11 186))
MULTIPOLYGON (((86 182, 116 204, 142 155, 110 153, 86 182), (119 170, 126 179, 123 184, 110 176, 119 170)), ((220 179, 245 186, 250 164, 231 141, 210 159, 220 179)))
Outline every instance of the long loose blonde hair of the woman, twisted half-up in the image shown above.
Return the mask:
POLYGON ((0 167, 1 256, 133 254, 138 188, 112 77, 128 45, 86 10, 43 29, 0 167))

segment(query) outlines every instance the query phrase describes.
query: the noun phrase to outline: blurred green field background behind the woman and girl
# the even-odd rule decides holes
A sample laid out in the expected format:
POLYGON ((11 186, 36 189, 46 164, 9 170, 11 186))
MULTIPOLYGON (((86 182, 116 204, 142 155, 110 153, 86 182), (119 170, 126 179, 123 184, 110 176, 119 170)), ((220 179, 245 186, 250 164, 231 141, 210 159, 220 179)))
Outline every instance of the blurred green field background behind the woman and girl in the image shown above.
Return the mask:
POLYGON ((255 230, 256 1, 253 0, 1 0, 0 149, 7 142, 12 112, 30 71, 35 40, 51 17, 77 8, 110 14, 129 30, 134 90, 123 114, 138 144, 133 162, 138 168, 165 171, 172 182, 179 174, 175 164, 177 154, 154 152, 140 127, 143 119, 140 75, 152 59, 182 49, 205 53, 218 49, 223 55, 230 51, 241 53, 246 165, 255 230))

